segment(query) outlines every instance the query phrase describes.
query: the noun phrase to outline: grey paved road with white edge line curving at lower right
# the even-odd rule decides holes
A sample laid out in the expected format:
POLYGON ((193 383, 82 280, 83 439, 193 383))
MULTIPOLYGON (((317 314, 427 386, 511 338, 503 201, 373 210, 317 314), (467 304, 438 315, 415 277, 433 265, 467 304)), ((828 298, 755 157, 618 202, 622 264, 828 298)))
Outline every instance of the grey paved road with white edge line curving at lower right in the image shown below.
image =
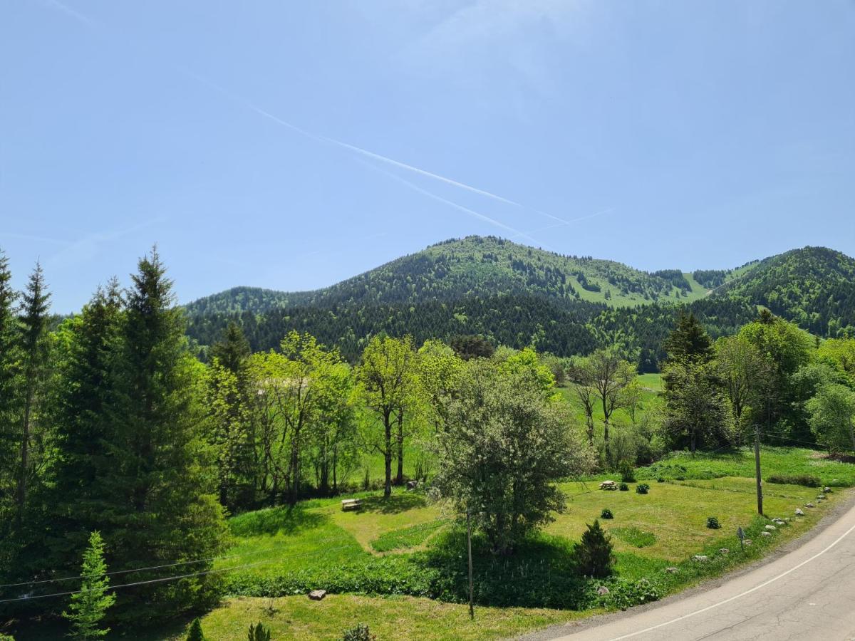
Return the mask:
POLYGON ((855 639, 855 506, 848 502, 839 518, 793 551, 721 585, 637 612, 553 627, 536 638, 855 639))

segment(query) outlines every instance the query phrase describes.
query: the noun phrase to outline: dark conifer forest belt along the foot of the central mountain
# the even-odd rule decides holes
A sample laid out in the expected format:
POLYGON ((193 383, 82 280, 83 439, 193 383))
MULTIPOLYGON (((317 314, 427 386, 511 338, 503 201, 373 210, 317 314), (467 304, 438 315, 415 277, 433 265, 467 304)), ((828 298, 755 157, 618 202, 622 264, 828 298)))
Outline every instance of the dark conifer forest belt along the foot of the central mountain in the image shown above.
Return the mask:
POLYGON ((187 332, 203 360, 208 358, 205 346, 231 322, 241 327, 253 351, 275 349, 287 332, 309 332, 337 347, 348 362, 357 362, 369 337, 383 332, 410 334, 417 343, 477 334, 515 349, 534 344, 556 356, 590 354, 621 340, 641 372, 657 372, 665 356, 663 340, 682 309, 692 311, 715 338, 736 332, 756 313, 748 303, 728 299, 610 309, 601 303, 561 305, 544 297, 497 296, 456 303, 272 309, 264 315, 196 314, 189 316, 187 332))

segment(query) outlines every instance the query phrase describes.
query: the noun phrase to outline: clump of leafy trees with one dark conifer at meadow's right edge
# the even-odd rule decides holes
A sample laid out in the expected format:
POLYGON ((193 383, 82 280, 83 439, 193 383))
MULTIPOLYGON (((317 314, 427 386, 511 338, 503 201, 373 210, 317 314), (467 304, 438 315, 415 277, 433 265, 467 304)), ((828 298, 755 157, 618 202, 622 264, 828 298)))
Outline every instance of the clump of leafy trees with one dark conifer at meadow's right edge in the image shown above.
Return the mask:
POLYGON ((713 341, 693 315, 666 339, 663 367, 670 448, 765 443, 855 450, 855 340, 820 342, 764 309, 713 341))

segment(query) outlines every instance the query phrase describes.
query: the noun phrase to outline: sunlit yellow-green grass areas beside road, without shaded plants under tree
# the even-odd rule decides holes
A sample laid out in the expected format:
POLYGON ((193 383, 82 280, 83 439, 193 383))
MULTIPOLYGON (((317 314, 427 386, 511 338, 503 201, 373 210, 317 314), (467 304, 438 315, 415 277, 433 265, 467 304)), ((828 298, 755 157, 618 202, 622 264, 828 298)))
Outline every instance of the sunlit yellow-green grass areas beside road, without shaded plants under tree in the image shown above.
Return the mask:
MULTIPOLYGON (((813 473, 823 483, 836 479, 837 485, 855 484, 855 466, 830 462, 811 450, 764 448, 764 474, 813 473)), ((640 468, 640 479, 663 477, 666 482, 648 480, 650 493, 605 492, 595 489, 599 479, 586 484, 567 483, 569 509, 547 528, 553 536, 578 540, 585 524, 610 508, 613 520, 601 521, 612 533, 617 556, 617 572, 626 579, 650 577, 663 589, 677 591, 700 579, 727 571, 742 562, 762 556, 769 547, 798 536, 814 525, 829 503, 845 495, 836 491, 828 502, 816 502, 817 490, 798 485, 764 484, 765 511, 769 516, 790 516, 790 525, 781 526, 773 537, 756 537, 742 556, 734 536, 737 526, 762 528, 764 521, 754 515, 753 458, 750 450, 736 450, 714 456, 692 458, 677 453, 651 468, 640 468), (677 480, 676 477, 684 480, 677 480), (817 508, 805 517, 793 516, 794 509, 813 500, 817 508), (707 516, 716 516, 721 530, 708 529, 707 516), (640 545, 640 546, 639 546, 640 545), (729 555, 717 552, 729 548, 729 555), (709 564, 692 562, 693 554, 711 557, 709 564), (677 567, 665 573, 664 567, 677 567)), ((602 477, 605 478, 605 477, 602 477)), ((615 478, 615 477, 612 477, 615 478)), ((442 511, 422 497, 396 491, 384 503, 377 493, 363 494, 366 508, 343 513, 337 500, 303 503, 296 511, 269 509, 240 515, 231 521, 238 541, 235 553, 253 552, 247 558, 220 562, 227 564, 264 562, 242 570, 247 573, 276 573, 311 564, 341 564, 370 558, 378 553, 372 541, 378 538, 408 538, 414 526, 431 527, 445 519, 442 511), (303 555, 303 556, 298 556, 303 555)), ((443 525, 440 529, 450 527, 443 525)), ((435 533, 435 532, 434 532, 435 533)), ((428 546, 421 538, 416 544, 428 546)), ((410 550, 393 550, 396 554, 410 550)), ((411 597, 332 595, 321 603, 303 595, 274 599, 235 598, 223 603, 203 619, 207 638, 241 638, 240 631, 251 621, 263 620, 274 630, 274 638, 340 638, 341 631, 357 622, 366 622, 379 638, 442 639, 500 638, 526 632, 559 621, 591 613, 550 609, 479 608, 475 624, 462 605, 438 603, 411 597)), ((156 638, 182 638, 180 631, 163 632, 156 638)))

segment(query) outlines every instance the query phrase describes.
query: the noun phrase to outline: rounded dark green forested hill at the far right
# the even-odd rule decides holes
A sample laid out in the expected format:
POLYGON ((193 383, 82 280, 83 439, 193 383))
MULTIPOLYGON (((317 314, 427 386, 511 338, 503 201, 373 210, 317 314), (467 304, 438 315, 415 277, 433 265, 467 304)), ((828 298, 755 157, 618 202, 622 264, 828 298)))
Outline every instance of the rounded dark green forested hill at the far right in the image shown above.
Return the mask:
POLYGON ((820 336, 855 333, 855 260, 825 247, 766 258, 714 296, 764 305, 820 336))

